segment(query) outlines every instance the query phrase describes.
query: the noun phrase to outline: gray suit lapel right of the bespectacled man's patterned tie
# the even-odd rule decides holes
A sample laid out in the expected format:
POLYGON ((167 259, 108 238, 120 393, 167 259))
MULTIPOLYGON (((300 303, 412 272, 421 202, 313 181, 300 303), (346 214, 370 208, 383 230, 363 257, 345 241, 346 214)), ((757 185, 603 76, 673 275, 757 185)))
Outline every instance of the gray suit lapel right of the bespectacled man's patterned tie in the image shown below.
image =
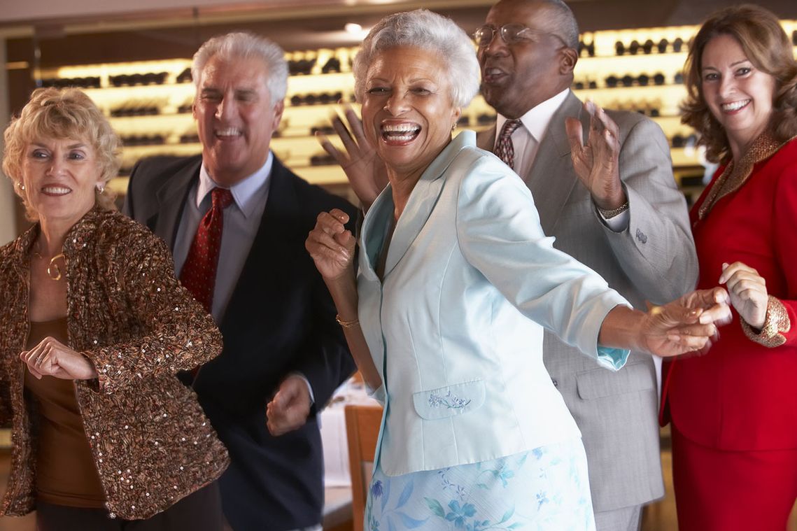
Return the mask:
POLYGON ((589 132, 589 116, 583 112, 581 100, 571 92, 548 125, 532 169, 524 179, 535 198, 535 205, 540 213, 540 225, 545 234, 552 234, 567 198, 579 180, 573 171, 570 143, 564 128, 564 119, 567 116, 578 117, 583 124, 584 133, 589 132), (583 115, 586 115, 586 124, 583 115))

